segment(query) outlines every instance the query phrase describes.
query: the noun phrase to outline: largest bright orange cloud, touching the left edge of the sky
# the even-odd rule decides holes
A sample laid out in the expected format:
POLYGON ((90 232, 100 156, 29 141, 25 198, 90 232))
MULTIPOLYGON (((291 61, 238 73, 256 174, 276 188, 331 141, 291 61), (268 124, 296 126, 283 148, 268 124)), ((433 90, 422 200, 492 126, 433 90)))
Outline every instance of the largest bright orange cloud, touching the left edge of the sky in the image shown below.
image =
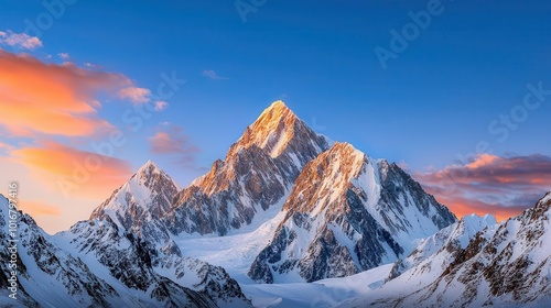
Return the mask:
POLYGON ((130 86, 120 74, 45 64, 0 50, 0 124, 15 135, 91 135, 111 129, 97 117, 99 91, 130 86))

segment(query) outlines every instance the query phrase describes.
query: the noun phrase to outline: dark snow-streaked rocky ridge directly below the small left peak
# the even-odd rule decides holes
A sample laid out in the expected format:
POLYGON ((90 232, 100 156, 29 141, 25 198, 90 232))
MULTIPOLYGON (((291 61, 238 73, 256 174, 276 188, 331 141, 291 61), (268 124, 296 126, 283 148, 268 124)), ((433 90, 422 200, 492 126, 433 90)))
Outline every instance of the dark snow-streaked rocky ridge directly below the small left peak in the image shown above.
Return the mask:
POLYGON ((74 255, 91 258, 96 266, 106 268, 122 288, 141 290, 166 300, 169 306, 180 307, 177 300, 184 294, 197 295, 197 302, 192 306, 224 306, 233 301, 250 306, 224 268, 179 257, 177 252, 163 252, 177 249, 173 242, 158 251, 150 242, 118 228, 110 217, 79 222, 57 237, 69 243, 74 255))

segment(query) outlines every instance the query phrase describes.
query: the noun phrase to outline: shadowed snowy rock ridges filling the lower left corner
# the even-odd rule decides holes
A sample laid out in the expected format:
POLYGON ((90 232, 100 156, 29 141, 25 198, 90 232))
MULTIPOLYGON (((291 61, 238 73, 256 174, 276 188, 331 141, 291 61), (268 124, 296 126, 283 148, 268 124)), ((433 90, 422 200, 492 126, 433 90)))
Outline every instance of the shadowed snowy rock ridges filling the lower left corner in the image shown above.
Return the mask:
MULTIPOLYGON (((0 219, 6 221, 3 196, 0 208, 0 219)), ((0 301, 2 307, 217 307, 225 300, 248 305, 223 268, 212 273, 222 273, 220 282, 233 280, 237 289, 219 293, 222 298, 210 296, 213 285, 185 287, 160 275, 154 266, 163 261, 110 217, 99 224, 83 221, 69 231, 48 235, 23 215, 18 235, 18 300, 0 301)), ((4 228, 0 238, 7 238, 4 228)), ((3 249, 0 254, 4 255, 3 249)), ((188 271, 187 275, 205 274, 188 271)))

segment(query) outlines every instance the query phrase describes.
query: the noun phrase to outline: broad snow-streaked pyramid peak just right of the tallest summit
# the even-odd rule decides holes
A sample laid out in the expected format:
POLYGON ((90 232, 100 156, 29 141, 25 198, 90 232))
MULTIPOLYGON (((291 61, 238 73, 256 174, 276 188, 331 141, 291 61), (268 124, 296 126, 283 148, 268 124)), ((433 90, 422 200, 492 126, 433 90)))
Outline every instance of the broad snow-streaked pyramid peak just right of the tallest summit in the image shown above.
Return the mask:
POLYGON ((249 271, 258 282, 313 282, 390 263, 455 217, 395 164, 335 143, 295 182, 285 219, 249 271))

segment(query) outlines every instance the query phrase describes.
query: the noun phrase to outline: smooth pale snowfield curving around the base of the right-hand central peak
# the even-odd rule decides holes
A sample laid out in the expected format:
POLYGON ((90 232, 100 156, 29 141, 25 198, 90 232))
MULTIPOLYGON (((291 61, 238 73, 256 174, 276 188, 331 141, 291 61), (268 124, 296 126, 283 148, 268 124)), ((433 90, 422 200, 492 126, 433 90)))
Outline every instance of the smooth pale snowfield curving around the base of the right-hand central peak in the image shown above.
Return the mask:
POLYGON ((328 278, 305 283, 299 276, 287 277, 281 284, 257 284, 247 272, 258 253, 267 245, 283 219, 280 212, 258 229, 226 237, 174 239, 183 256, 199 258, 223 266, 234 277, 244 294, 259 308, 274 307, 335 307, 338 302, 367 295, 382 285, 392 267, 386 264, 344 278, 328 278))

